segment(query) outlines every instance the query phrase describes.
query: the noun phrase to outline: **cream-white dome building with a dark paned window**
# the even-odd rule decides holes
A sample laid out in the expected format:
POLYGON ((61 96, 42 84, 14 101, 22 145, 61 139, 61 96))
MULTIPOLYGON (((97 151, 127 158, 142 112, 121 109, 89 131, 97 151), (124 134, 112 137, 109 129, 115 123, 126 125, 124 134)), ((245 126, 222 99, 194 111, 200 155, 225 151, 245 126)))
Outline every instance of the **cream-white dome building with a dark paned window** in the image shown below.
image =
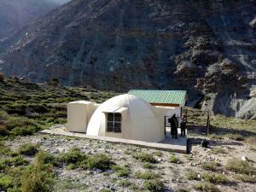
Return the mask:
POLYGON ((115 96, 92 114, 86 135, 158 143, 165 138, 165 127, 153 108, 137 96, 115 96))

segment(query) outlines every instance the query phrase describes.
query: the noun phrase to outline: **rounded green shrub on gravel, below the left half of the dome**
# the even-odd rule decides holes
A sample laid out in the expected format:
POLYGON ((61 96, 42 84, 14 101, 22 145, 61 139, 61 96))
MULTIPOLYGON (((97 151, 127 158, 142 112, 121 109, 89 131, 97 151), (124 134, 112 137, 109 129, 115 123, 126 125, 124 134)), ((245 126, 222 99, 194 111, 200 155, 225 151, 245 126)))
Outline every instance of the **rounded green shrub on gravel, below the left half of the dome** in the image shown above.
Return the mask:
POLYGON ((88 158, 87 166, 89 169, 101 169, 105 171, 113 166, 113 161, 111 157, 106 154, 96 154, 88 158))

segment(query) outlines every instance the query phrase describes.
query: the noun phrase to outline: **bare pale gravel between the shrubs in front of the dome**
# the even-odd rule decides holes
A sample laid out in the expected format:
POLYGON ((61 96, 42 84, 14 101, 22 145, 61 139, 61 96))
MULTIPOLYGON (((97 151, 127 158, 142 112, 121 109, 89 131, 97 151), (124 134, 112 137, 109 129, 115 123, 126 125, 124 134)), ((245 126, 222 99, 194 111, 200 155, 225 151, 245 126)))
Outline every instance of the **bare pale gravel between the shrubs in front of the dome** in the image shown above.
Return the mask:
MULTIPOLYGON (((157 153, 157 150, 154 149, 106 143, 84 138, 53 136, 42 133, 30 137, 15 138, 12 141, 7 141, 6 144, 13 149, 17 149, 22 143, 39 143, 42 150, 48 151, 51 154, 67 152, 70 148, 77 147, 85 154, 109 154, 116 164, 129 164, 131 167, 131 174, 129 177, 118 177, 113 171, 67 170, 66 166, 64 166, 64 168, 55 168, 58 180, 55 183, 54 191, 79 192, 101 191, 102 189, 110 189, 112 191, 134 191, 134 189, 119 186, 120 180, 123 179, 128 179, 131 183, 134 183, 134 185, 137 186, 137 191, 142 191, 143 179, 138 179, 135 176, 135 173, 138 171, 146 171, 146 169, 143 168, 142 162, 135 160, 132 157, 132 154, 139 151, 154 154, 157 163, 154 164, 154 168, 150 171, 160 175, 160 179, 165 184, 166 191, 178 191, 178 189, 180 189, 180 191, 181 189, 196 191, 193 188, 193 185, 195 183, 201 183, 202 180, 188 180, 186 173, 189 172, 189 170, 200 172, 200 174, 210 172, 202 169, 201 164, 203 162, 217 161, 221 166, 224 166, 226 161, 231 158, 241 159, 242 156, 246 156, 255 167, 255 148, 248 147, 245 143, 231 140, 215 140, 210 142, 210 148, 201 148, 200 139, 191 138, 190 141, 192 141, 191 154, 172 153, 177 156, 179 160, 178 163, 171 163, 169 161, 171 153, 166 151, 161 151, 161 155, 157 156, 155 154, 157 153), (211 151, 215 150, 215 148, 224 149, 224 154, 212 154, 211 151)), ((32 161, 33 158, 28 158, 28 160, 32 161)), ((237 180, 236 177, 234 177, 235 173, 233 172, 224 170, 218 173, 224 174, 230 181, 227 184, 217 184, 216 186, 220 191, 256 191, 254 183, 244 183, 237 180)))

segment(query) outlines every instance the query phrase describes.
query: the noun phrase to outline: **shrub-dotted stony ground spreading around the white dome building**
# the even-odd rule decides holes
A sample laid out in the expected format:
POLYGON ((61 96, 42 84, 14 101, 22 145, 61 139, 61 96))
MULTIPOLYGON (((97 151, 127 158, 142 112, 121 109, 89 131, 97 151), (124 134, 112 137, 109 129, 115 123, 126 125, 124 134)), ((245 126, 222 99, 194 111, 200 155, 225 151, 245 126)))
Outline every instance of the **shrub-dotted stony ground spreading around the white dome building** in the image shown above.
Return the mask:
POLYGON ((0 81, 0 91, 1 191, 254 192, 256 120, 212 116, 206 136, 195 129, 205 116, 188 108, 191 154, 177 154, 39 132, 67 122, 67 102, 117 93, 18 79, 0 81))

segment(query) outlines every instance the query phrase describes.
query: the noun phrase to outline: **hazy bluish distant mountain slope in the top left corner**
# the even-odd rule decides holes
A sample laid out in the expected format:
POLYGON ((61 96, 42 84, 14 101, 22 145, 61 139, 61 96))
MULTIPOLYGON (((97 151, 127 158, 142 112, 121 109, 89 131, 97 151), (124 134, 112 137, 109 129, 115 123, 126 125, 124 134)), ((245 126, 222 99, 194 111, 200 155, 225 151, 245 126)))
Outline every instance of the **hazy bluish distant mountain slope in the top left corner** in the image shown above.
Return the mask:
POLYGON ((44 15, 61 3, 65 2, 60 0, 1 0, 0 39, 26 26, 28 22, 44 15))

